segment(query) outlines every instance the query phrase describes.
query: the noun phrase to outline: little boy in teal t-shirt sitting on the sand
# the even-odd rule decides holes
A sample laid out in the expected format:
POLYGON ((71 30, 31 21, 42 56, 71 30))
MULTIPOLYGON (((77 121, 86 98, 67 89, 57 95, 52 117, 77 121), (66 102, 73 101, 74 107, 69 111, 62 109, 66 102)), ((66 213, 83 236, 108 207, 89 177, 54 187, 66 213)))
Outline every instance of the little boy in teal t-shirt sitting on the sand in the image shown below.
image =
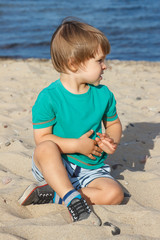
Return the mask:
POLYGON ((32 172, 40 183, 27 188, 21 205, 52 199, 68 207, 73 221, 100 225, 89 205, 122 202, 123 191, 104 163, 122 132, 115 98, 100 85, 109 52, 102 32, 76 20, 66 19, 53 34, 51 58, 60 79, 43 89, 32 109, 32 172))

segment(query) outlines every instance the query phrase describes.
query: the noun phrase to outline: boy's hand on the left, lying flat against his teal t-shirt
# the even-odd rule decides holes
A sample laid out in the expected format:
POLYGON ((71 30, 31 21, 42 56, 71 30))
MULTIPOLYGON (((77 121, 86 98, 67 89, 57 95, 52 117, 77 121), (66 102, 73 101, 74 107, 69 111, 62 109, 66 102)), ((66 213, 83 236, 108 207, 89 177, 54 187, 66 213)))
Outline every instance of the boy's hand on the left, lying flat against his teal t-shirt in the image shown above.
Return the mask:
POLYGON ((78 153, 81 153, 91 159, 96 159, 95 156, 101 156, 102 149, 97 146, 97 142, 89 138, 93 134, 93 130, 83 134, 78 139, 78 153))

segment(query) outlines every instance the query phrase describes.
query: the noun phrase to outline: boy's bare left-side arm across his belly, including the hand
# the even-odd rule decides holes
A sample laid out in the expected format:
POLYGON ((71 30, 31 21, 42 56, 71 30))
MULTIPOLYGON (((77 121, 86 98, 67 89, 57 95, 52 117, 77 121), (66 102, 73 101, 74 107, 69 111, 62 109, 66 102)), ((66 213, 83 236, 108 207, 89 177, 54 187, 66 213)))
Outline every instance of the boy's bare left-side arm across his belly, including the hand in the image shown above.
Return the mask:
POLYGON ((52 134, 52 126, 42 129, 34 129, 34 139, 36 145, 44 141, 53 141, 57 144, 61 153, 81 153, 88 156, 91 159, 95 159, 93 156, 100 156, 101 149, 96 146, 96 141, 89 138, 93 133, 93 130, 82 135, 80 138, 61 138, 52 134))

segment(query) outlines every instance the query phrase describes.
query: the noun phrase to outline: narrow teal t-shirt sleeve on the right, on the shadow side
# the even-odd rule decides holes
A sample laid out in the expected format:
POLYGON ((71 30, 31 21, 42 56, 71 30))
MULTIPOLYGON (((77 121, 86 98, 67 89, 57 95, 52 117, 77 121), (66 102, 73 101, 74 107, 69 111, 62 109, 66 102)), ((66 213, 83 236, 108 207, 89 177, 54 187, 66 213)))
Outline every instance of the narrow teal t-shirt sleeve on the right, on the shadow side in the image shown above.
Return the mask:
POLYGON ((103 115, 104 121, 114 121, 118 118, 117 109, 116 109, 116 100, 113 93, 108 89, 108 103, 103 115))

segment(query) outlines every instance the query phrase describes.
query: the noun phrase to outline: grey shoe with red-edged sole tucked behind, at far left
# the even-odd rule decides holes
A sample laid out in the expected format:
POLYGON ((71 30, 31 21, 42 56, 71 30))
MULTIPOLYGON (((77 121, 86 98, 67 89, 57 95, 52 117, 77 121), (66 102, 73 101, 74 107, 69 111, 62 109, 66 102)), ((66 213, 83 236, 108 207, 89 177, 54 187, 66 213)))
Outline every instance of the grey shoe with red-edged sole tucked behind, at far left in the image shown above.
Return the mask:
POLYGON ((53 203, 54 191, 45 182, 31 184, 19 198, 20 205, 53 203))

